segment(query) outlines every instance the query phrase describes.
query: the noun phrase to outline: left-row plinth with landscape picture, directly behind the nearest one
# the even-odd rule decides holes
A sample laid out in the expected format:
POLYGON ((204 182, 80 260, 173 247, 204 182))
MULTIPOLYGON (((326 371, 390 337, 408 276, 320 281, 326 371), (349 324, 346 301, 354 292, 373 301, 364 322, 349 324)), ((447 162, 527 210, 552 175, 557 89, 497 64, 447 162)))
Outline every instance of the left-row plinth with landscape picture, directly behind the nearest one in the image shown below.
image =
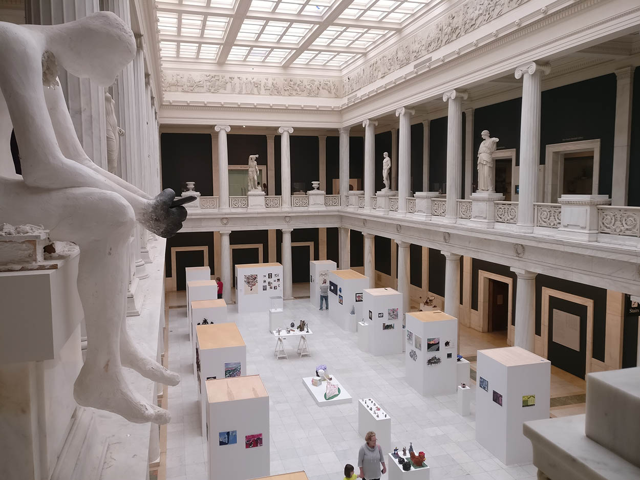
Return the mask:
POLYGON ((196 326, 198 348, 196 378, 200 394, 202 435, 207 435, 207 388, 205 381, 225 378, 225 372, 246 374, 246 345, 235 323, 196 326))

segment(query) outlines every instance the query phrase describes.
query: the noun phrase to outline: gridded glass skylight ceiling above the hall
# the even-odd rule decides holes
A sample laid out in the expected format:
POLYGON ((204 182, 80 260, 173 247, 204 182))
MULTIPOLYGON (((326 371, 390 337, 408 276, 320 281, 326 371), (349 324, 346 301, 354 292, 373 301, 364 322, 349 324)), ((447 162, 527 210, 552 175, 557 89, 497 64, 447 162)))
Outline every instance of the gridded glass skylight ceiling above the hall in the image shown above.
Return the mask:
POLYGON ((438 0, 159 0, 161 56, 339 70, 438 0))

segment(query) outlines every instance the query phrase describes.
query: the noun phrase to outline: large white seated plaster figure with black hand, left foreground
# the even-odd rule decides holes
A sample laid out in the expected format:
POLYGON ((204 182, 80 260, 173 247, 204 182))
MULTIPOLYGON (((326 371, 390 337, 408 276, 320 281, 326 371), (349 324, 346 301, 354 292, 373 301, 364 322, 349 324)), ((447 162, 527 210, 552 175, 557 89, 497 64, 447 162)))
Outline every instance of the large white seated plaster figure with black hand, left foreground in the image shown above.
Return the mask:
POLYGON ((175 234, 187 216, 177 205, 190 200, 173 203, 172 189, 151 198, 95 165, 56 87, 58 67, 102 86, 113 84, 135 56, 133 33, 113 13, 99 12, 54 26, 0 22, 0 38, 0 64, 11 65, 0 69, 0 172, 12 163, 12 127, 22 167, 21 177, 0 177, 0 218, 43 225, 52 240, 80 248, 77 288, 88 348, 74 397, 131 422, 165 424, 169 412, 133 392, 122 372, 125 366, 160 383, 180 381, 143 355, 127 333, 127 244, 136 220, 160 236, 175 234))

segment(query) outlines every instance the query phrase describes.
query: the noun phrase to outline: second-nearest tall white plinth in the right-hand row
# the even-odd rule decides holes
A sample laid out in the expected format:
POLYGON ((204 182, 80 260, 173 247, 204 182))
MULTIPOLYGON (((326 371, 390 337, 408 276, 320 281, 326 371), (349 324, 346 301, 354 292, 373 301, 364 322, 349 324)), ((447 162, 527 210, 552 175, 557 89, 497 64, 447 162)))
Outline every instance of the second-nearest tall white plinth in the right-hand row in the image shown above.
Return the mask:
POLYGON ((406 381, 422 395, 451 395, 458 385, 458 319, 440 310, 406 314, 406 381))

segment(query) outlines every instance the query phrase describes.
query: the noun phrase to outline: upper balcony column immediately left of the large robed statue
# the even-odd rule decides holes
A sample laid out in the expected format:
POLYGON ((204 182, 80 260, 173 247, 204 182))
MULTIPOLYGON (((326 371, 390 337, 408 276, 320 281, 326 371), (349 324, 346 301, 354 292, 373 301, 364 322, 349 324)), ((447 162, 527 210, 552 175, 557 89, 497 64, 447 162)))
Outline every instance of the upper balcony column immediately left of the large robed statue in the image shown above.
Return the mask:
MULTIPOLYGON (((442 95, 449 102, 447 116, 447 216, 454 223, 458 218, 458 199, 462 178, 462 100, 467 98, 464 90, 451 90, 442 95)), ((451 315, 451 314, 449 314, 451 315)), ((457 318, 457 316, 456 316, 457 318)))

